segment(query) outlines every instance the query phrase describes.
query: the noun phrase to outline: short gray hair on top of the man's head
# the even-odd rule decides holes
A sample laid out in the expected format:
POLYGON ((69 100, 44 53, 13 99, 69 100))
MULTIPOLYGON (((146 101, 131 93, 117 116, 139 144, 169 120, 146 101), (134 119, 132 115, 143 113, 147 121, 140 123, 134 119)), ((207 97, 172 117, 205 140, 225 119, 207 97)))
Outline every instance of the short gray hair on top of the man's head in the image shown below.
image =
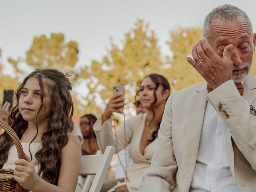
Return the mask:
POLYGON ((225 5, 214 8, 212 12, 210 12, 204 19, 204 27, 203 27, 204 37, 206 38, 209 37, 211 22, 213 19, 216 19, 216 18, 222 20, 224 23, 230 22, 236 19, 238 20, 245 19, 248 22, 249 28, 252 32, 252 22, 249 19, 246 12, 244 12, 243 10, 241 10, 240 8, 234 5, 225 4, 225 5))

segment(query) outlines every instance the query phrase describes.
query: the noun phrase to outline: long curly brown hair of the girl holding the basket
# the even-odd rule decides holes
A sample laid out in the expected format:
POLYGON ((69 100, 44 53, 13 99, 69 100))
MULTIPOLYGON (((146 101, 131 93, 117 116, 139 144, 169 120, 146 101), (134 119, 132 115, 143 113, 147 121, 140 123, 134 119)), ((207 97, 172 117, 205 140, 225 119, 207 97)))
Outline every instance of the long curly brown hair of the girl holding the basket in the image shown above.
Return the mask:
MULTIPOLYGON (((16 132, 19 139, 21 139, 22 134, 28 127, 28 122, 22 118, 18 109, 19 98, 24 84, 31 77, 37 78, 40 85, 40 99, 42 104, 38 113, 42 110, 45 89, 49 90, 52 101, 51 117, 47 119, 49 122, 48 130, 42 135, 42 148, 35 154, 35 158, 40 164, 38 175, 42 174, 42 179, 57 185, 61 165, 61 150, 68 143, 67 133, 73 130, 73 122, 71 120, 73 115, 73 102, 69 91, 72 90, 72 86, 68 78, 66 78, 62 72, 55 69, 40 68, 30 73, 23 80, 15 93, 17 104, 12 108, 8 120, 8 124, 16 132)), ((37 115, 36 129, 38 133, 37 115)), ((36 136, 34 138, 36 138, 36 136)), ((0 136, 0 168, 7 161, 8 152, 12 145, 13 142, 10 136, 4 132, 0 136)))

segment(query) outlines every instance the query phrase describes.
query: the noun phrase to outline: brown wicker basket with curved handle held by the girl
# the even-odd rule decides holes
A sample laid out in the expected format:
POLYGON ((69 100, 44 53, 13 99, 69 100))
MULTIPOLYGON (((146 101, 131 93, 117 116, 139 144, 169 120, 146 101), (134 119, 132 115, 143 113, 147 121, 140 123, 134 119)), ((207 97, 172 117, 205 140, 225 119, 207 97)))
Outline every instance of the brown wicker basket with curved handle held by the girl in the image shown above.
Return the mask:
MULTIPOLYGON (((16 146, 19 159, 25 159, 23 148, 20 144, 20 140, 14 130, 2 120, 0 120, 0 127, 6 130, 7 134, 12 138, 14 145, 16 146)), ((14 170, 0 169, 0 192, 29 192, 30 190, 22 188, 18 182, 13 178, 14 170), (3 176, 4 175, 4 176, 3 176), (10 177, 10 175, 12 175, 10 177)))

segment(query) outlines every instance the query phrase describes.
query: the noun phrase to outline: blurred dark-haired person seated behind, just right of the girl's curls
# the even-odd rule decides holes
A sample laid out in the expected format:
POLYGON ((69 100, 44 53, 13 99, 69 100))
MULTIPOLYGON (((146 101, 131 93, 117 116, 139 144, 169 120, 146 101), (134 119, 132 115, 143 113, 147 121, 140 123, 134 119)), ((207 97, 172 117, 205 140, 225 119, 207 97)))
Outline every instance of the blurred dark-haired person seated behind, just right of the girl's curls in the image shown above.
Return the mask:
POLYGON ((92 114, 86 114, 80 118, 80 129, 84 138, 82 143, 82 155, 95 155, 99 150, 93 125, 97 118, 92 114))

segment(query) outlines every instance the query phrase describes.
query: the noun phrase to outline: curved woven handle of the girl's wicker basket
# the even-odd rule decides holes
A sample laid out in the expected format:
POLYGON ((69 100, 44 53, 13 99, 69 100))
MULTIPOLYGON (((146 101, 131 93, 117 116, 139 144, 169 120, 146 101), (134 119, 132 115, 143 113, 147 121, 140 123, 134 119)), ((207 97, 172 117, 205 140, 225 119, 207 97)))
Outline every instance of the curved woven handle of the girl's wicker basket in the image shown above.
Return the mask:
POLYGON ((0 127, 7 132, 7 134, 11 137, 12 141, 14 142, 14 145, 16 146, 16 150, 18 152, 19 159, 25 159, 25 154, 22 145, 14 130, 2 120, 0 120, 0 127))

